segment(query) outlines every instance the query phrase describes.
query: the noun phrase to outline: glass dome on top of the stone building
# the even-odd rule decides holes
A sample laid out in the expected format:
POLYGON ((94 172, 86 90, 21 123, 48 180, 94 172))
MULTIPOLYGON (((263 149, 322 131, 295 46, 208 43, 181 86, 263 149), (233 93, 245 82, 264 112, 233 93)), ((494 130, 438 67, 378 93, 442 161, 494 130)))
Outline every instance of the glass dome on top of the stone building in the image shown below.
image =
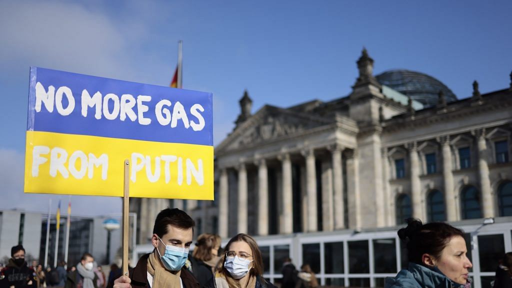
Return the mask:
POLYGON ((420 72, 391 70, 383 72, 375 76, 375 78, 377 78, 380 84, 421 102, 425 107, 437 104, 440 90, 443 91, 446 102, 457 100, 457 96, 455 96, 452 90, 441 81, 420 72))

